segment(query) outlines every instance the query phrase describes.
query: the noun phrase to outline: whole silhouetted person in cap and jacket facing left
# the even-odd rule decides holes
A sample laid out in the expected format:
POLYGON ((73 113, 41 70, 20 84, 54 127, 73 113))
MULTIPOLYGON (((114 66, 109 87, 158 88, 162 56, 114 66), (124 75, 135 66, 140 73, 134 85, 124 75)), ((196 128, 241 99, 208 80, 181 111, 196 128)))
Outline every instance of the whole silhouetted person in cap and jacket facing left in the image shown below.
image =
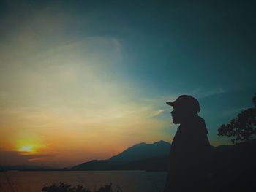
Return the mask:
POLYGON ((211 146, 200 105, 192 96, 181 95, 174 102, 173 123, 180 124, 170 149, 170 166, 165 192, 208 191, 208 160, 211 146))

